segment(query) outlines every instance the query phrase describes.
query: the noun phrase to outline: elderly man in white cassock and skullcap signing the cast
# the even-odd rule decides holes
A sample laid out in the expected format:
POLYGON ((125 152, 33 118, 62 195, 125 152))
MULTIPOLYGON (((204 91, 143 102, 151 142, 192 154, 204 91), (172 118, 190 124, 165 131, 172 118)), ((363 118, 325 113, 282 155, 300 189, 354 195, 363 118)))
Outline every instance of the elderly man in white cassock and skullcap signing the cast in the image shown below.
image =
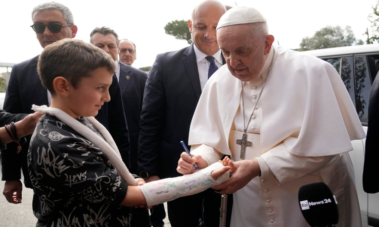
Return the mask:
POLYGON ((178 172, 231 155, 235 172, 214 189, 234 193, 234 227, 309 226, 298 192, 315 182, 337 197, 337 226, 361 226, 347 152, 365 133, 334 67, 272 46, 266 20, 253 8, 228 10, 217 41, 226 65, 204 88, 189 132, 194 156, 182 153, 178 172))

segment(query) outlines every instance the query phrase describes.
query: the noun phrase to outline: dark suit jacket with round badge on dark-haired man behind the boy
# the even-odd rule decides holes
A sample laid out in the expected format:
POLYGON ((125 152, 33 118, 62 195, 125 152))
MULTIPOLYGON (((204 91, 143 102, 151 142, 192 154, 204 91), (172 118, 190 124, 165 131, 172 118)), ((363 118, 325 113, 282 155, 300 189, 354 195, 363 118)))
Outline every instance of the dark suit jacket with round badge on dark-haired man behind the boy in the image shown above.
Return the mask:
POLYGON ((129 171, 133 174, 137 174, 138 138, 140 131, 139 120, 147 78, 148 75, 144 71, 120 62, 119 84, 130 140, 130 155, 129 157, 123 156, 122 159, 124 162, 130 159, 130 165, 127 166, 129 167, 129 171))

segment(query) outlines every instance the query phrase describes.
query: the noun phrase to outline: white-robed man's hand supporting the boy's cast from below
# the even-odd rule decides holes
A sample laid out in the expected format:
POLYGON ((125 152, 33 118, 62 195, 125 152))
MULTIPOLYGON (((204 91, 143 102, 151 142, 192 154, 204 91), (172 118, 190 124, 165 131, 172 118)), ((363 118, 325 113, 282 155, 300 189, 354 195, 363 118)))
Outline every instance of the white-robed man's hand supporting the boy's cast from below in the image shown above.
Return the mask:
POLYGON ((234 173, 226 182, 213 187, 217 193, 231 194, 247 185, 259 175, 259 164, 256 159, 233 162, 234 173))

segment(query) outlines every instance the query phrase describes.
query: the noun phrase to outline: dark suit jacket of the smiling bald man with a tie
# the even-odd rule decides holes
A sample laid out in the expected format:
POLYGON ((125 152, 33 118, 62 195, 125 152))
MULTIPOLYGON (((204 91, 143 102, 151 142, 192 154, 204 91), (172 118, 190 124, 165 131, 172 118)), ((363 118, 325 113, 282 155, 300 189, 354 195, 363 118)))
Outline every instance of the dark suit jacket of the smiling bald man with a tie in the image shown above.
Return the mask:
MULTIPOLYGON (((188 131, 201 95, 194 44, 158 54, 149 72, 141 111, 138 171, 175 177, 188 131)), ((225 62, 224 62, 225 63, 225 62)))

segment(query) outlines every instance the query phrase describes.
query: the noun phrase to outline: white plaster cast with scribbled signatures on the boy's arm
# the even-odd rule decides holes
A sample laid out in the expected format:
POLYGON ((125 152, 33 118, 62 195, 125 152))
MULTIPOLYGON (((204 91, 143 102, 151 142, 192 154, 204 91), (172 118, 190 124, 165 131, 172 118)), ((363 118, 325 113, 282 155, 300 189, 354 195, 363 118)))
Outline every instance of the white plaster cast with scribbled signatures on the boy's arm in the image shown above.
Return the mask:
POLYGON ((215 162, 193 174, 149 182, 138 186, 138 188, 144 194, 148 206, 153 206, 179 197, 195 195, 227 181, 229 171, 217 178, 217 180, 211 177, 212 171, 222 167, 222 163, 215 162))

